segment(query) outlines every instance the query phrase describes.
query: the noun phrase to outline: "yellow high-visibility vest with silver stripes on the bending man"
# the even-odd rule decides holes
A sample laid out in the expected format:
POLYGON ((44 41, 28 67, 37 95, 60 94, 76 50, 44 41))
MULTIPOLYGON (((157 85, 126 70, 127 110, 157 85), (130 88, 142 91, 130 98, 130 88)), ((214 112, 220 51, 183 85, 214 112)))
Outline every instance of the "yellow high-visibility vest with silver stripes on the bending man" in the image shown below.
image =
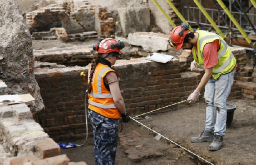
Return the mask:
POLYGON ((206 32, 202 30, 197 30, 199 37, 197 41, 197 50, 199 57, 196 56, 196 50, 193 48, 193 56, 195 61, 204 68, 204 59, 203 59, 203 48, 206 44, 213 42, 214 40, 220 40, 220 49, 218 50, 218 64, 213 66, 213 78, 218 79, 222 74, 229 73, 233 70, 236 65, 236 59, 231 52, 231 49, 228 47, 226 42, 217 34, 206 32))

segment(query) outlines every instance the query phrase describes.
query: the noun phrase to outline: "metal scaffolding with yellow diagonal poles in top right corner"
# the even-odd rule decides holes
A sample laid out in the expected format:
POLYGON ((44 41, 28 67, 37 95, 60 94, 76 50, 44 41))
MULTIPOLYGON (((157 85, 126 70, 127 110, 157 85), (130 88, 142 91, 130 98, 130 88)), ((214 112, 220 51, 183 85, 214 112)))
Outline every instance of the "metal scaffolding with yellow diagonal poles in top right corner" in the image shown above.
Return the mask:
POLYGON ((171 0, 166 2, 181 22, 187 22, 193 30, 216 32, 231 46, 256 54, 256 0, 181 0, 180 11, 171 0), (203 7, 209 2, 214 5, 203 7))

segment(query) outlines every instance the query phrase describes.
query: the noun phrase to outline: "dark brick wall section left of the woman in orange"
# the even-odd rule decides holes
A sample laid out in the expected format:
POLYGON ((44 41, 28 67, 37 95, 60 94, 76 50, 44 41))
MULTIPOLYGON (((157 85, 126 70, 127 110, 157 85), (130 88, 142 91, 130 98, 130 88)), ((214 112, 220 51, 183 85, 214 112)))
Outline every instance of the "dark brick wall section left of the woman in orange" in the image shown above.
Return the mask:
POLYGON ((39 122, 55 140, 85 137, 86 82, 80 77, 84 69, 38 69, 35 73, 45 103, 39 122))

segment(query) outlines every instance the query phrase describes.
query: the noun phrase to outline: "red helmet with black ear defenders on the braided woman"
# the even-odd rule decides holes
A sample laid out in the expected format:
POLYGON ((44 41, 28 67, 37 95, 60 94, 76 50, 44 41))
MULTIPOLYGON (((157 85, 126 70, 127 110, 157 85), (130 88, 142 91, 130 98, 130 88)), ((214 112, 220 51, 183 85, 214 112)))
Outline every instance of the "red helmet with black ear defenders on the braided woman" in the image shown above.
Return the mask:
POLYGON ((116 41, 112 38, 103 39, 101 42, 95 42, 93 44, 93 50, 98 51, 99 53, 108 54, 110 52, 119 52, 123 53, 120 50, 125 47, 123 41, 116 41))

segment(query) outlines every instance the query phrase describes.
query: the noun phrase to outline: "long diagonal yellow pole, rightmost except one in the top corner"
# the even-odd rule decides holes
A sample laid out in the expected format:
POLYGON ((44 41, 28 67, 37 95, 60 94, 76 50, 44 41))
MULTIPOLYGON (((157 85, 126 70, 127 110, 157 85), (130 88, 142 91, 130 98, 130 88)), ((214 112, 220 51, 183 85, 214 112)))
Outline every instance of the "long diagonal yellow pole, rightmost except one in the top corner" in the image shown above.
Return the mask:
POLYGON ((222 9, 226 12, 226 14, 228 15, 228 17, 231 19, 231 21, 236 25, 236 27, 238 28, 238 30, 241 32, 241 34, 243 35, 243 37, 245 38, 245 40, 251 44, 251 39, 247 36, 246 32, 243 30, 243 28, 239 25, 239 23, 236 21, 236 18, 231 14, 231 12, 228 10, 228 8, 226 7, 226 5, 223 3, 222 0, 216 0, 218 2, 219 5, 221 5, 222 9))

